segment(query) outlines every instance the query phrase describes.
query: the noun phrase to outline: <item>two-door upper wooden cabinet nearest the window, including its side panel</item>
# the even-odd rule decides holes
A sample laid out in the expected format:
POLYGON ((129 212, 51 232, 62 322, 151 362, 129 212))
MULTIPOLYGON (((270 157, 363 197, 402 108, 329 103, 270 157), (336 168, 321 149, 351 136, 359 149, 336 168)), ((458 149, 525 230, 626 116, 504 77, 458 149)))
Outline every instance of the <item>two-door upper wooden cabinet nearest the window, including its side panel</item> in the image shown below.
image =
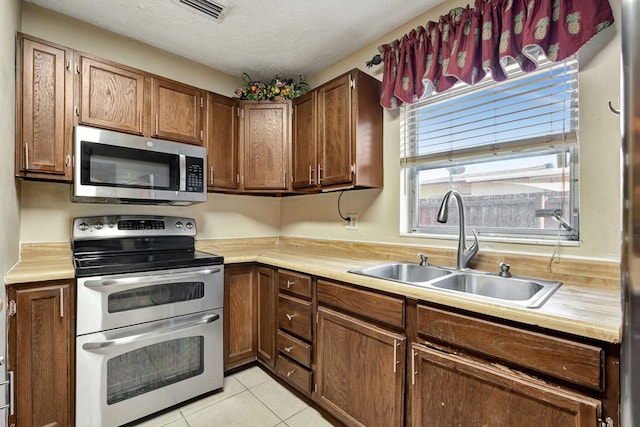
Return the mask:
POLYGON ((294 100, 294 188, 381 188, 380 82, 354 69, 314 92, 294 100))

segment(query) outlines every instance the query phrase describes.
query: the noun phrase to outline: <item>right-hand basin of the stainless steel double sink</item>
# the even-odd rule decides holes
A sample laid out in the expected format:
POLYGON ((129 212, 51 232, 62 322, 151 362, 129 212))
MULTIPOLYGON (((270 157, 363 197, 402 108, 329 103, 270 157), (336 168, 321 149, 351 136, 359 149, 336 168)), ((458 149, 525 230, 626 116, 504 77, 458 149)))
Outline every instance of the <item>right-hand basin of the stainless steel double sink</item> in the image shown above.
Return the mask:
POLYGON ((540 307, 560 285, 560 282, 469 272, 460 272, 430 283, 436 289, 507 301, 529 308, 540 307))

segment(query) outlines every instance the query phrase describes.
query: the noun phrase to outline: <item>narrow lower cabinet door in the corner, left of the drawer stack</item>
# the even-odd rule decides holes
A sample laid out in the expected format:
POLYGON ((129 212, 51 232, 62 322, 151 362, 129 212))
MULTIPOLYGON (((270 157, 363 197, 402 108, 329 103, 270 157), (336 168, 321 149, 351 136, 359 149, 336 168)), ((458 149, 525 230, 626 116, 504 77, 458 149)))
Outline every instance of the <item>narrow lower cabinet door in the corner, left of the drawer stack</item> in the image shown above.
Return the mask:
POLYGON ((258 358, 273 368, 276 364, 275 271, 258 267, 258 358))

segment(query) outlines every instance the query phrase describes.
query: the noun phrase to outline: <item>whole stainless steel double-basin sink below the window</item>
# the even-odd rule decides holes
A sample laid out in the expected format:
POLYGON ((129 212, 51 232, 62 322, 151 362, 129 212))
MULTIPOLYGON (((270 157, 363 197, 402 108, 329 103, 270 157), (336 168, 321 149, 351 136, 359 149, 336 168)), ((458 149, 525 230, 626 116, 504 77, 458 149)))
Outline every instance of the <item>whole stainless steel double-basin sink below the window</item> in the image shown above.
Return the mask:
POLYGON ((562 285, 560 282, 501 277, 477 270, 458 270, 438 266, 421 266, 393 262, 350 270, 377 279, 451 292, 475 300, 538 308, 562 285))

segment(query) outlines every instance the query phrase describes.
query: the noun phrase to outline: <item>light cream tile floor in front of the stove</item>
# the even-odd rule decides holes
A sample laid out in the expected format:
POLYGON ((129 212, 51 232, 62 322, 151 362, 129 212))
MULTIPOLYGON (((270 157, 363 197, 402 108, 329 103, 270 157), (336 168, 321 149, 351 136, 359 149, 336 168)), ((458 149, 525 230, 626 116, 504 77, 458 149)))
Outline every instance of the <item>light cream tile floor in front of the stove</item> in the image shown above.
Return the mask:
POLYGON ((261 368, 225 377, 224 390, 139 427, 330 427, 331 422, 261 368))

